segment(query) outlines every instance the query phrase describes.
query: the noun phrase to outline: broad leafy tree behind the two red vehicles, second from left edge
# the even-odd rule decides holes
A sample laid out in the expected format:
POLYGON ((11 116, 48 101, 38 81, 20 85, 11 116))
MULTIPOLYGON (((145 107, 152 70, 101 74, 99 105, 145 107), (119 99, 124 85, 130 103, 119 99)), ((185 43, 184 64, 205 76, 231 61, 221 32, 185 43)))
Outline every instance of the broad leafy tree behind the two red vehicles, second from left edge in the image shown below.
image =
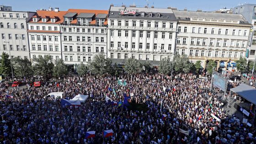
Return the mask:
POLYGON ((19 57, 15 57, 12 59, 12 65, 14 68, 14 74, 16 78, 23 78, 26 76, 27 78, 33 76, 32 63, 28 59, 21 59, 19 57))

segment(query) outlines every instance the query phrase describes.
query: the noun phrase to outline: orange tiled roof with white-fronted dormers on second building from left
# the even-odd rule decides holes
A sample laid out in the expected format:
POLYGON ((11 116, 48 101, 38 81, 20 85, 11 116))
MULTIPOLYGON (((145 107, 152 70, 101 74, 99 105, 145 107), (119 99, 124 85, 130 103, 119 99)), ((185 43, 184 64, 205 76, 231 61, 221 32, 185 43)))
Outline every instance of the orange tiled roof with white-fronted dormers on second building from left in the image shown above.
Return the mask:
POLYGON ((66 14, 67 11, 37 11, 32 18, 40 18, 39 21, 34 22, 31 18, 28 23, 49 23, 49 24, 59 24, 63 22, 63 16, 66 14), (51 22, 49 19, 46 22, 43 22, 41 18, 55 18, 57 19, 55 22, 51 22))

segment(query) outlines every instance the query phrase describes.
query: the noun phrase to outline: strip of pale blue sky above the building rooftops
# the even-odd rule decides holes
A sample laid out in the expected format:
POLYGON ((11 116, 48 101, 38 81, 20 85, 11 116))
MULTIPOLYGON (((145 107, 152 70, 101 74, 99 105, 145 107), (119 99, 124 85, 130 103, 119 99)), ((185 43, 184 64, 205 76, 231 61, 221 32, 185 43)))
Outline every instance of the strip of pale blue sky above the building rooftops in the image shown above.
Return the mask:
MULTIPOLYGON (((239 4, 251 3, 256 4, 256 0, 148 0, 149 5, 159 8, 168 6, 177 7, 178 10, 187 8, 190 11, 201 9, 203 11, 219 10, 226 6, 232 8, 239 4)), ((95 9, 108 10, 110 4, 114 5, 146 5, 146 0, 0 0, 0 5, 12 6, 13 11, 36 11, 37 9, 48 9, 59 7, 60 11, 72 9, 95 9)))

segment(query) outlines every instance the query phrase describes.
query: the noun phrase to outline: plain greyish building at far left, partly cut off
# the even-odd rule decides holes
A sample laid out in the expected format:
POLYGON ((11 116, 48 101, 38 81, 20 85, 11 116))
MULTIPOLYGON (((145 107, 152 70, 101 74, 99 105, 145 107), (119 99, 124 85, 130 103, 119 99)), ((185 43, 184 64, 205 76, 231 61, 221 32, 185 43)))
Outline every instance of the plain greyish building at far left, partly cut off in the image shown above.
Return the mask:
POLYGON ((11 11, 10 6, 1 5, 0 54, 29 59, 27 20, 34 12, 11 11))

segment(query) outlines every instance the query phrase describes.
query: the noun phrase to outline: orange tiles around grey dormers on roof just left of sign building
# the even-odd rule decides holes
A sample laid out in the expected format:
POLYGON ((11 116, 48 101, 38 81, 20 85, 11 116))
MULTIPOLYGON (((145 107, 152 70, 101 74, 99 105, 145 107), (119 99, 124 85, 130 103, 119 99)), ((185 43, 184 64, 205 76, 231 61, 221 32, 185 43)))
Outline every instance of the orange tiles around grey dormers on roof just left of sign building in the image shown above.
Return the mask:
MULTIPOLYGON (((77 13, 78 16, 75 16, 73 21, 71 21, 71 24, 76 24, 77 23, 77 17, 79 17, 79 15, 81 13, 86 13, 89 15, 89 13, 92 13, 92 14, 95 14, 95 15, 98 15, 98 14, 108 14, 108 11, 106 10, 85 10, 85 9, 69 9, 67 11, 67 13, 77 13)), ((82 14, 83 15, 83 14, 82 14)), ((81 16, 82 16, 81 15, 81 16)), ((92 25, 95 25, 96 24, 96 20, 95 18, 92 19, 91 21, 91 24, 92 25)), ((107 18, 105 19, 105 22, 104 22, 104 25, 107 25, 107 18)))

